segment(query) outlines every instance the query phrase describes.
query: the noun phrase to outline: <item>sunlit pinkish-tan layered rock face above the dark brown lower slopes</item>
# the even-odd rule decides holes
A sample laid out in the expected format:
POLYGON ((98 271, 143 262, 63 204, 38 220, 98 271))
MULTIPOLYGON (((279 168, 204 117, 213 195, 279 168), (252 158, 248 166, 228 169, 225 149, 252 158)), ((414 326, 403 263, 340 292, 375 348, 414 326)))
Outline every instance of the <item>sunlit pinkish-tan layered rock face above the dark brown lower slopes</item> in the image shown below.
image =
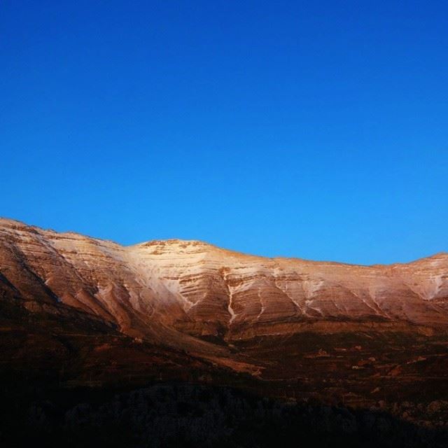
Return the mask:
POLYGON ((200 241, 123 247, 5 219, 0 244, 3 283, 28 307, 62 302, 131 335, 156 324, 225 339, 322 320, 448 325, 446 253, 356 266, 261 258, 200 241))

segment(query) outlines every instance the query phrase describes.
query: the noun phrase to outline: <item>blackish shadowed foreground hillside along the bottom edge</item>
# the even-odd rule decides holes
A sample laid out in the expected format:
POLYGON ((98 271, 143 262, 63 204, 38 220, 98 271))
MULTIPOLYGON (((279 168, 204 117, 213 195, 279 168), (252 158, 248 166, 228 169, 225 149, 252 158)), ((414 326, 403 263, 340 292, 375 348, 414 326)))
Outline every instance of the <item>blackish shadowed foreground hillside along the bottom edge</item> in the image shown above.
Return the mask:
POLYGON ((372 410, 290 404, 236 389, 3 388, 1 447, 447 447, 446 430, 372 410))

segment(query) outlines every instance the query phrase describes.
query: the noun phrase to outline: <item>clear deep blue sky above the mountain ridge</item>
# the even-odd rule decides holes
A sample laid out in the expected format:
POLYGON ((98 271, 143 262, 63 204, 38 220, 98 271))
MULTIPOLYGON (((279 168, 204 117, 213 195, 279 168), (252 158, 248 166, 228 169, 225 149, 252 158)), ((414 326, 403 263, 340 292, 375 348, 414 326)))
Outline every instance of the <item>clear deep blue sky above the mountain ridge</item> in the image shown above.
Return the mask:
POLYGON ((0 215, 370 264, 448 251, 446 1, 0 3, 0 215))

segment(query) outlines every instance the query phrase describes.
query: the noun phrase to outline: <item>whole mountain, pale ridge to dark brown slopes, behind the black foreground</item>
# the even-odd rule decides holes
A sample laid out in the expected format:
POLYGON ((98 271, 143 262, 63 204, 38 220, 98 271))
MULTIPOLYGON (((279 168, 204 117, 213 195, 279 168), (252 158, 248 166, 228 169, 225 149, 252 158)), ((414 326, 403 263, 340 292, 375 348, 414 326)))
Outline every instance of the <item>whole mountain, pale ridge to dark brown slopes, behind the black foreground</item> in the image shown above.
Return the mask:
POLYGON ((120 246, 1 219, 0 307, 6 375, 27 377, 32 362, 64 384, 448 399, 447 253, 358 266, 179 239, 120 246))

